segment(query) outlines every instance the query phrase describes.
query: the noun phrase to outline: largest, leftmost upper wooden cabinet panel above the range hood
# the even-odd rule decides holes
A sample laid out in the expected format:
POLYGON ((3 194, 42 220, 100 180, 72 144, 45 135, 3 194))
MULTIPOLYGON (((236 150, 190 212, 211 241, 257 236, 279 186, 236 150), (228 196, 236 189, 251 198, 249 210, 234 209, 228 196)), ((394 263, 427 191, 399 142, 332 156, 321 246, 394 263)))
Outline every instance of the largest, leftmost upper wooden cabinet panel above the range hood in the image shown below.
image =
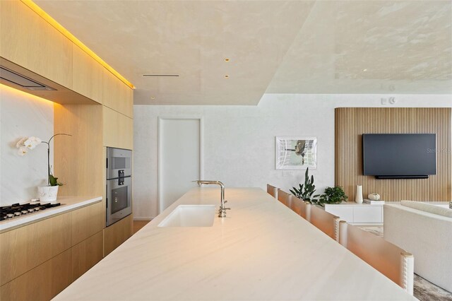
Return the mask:
POLYGON ((72 42, 21 1, 1 1, 0 56, 72 88, 72 42))

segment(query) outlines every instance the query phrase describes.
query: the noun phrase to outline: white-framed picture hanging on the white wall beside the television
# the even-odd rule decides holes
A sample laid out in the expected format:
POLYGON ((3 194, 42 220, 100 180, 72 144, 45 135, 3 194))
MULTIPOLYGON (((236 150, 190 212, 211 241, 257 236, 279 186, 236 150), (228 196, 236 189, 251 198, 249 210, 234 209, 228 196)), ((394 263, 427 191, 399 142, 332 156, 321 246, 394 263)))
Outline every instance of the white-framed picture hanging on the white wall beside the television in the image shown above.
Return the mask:
POLYGON ((317 169, 316 137, 276 137, 275 169, 317 169))

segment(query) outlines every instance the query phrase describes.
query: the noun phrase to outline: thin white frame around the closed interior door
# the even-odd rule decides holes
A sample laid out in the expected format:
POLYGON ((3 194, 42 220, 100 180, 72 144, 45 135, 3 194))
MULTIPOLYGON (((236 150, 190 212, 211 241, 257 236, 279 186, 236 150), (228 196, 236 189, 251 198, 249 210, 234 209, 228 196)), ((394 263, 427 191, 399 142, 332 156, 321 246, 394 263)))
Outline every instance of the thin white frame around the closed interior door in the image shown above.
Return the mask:
POLYGON ((203 117, 202 116, 177 116, 177 117, 158 117, 157 124, 157 196, 158 213, 162 213, 162 122, 164 120, 199 120, 199 177, 203 178, 203 117))

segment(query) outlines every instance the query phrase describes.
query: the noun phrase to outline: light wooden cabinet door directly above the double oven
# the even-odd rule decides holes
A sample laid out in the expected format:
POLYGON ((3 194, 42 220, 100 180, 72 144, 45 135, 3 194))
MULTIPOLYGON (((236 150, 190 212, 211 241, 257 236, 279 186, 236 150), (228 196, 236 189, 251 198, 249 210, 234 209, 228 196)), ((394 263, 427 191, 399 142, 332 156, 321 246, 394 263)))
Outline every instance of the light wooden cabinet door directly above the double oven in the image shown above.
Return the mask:
POLYGON ((133 119, 103 107, 104 146, 133 149, 133 119))

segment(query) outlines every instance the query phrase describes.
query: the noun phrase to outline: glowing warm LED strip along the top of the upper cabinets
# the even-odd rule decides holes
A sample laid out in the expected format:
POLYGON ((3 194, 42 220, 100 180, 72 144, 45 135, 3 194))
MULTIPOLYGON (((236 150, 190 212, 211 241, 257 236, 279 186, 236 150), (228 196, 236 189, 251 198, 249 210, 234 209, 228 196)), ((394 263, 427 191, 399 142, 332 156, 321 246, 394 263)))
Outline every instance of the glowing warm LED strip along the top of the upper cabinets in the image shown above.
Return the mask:
POLYGON ((54 18, 49 16, 48 13, 42 10, 35 2, 32 0, 20 0, 31 8, 32 11, 37 13, 41 18, 47 21, 50 25, 52 25, 54 28, 56 28, 61 34, 63 34, 65 37, 67 37, 71 42, 73 42, 75 45, 80 47, 84 52, 90 55, 90 57, 93 57, 99 64, 105 67, 108 71, 114 74, 117 78, 119 78, 121 81, 123 81, 126 85, 129 85, 130 88, 134 89, 135 87, 132 85, 130 81, 127 81, 124 76, 121 76, 121 74, 118 73, 118 71, 114 70, 109 64, 107 64, 103 59, 101 59, 97 54, 93 52, 93 50, 86 47, 80 40, 78 40, 73 34, 69 32, 66 28, 64 28, 60 23, 58 23, 54 18))

